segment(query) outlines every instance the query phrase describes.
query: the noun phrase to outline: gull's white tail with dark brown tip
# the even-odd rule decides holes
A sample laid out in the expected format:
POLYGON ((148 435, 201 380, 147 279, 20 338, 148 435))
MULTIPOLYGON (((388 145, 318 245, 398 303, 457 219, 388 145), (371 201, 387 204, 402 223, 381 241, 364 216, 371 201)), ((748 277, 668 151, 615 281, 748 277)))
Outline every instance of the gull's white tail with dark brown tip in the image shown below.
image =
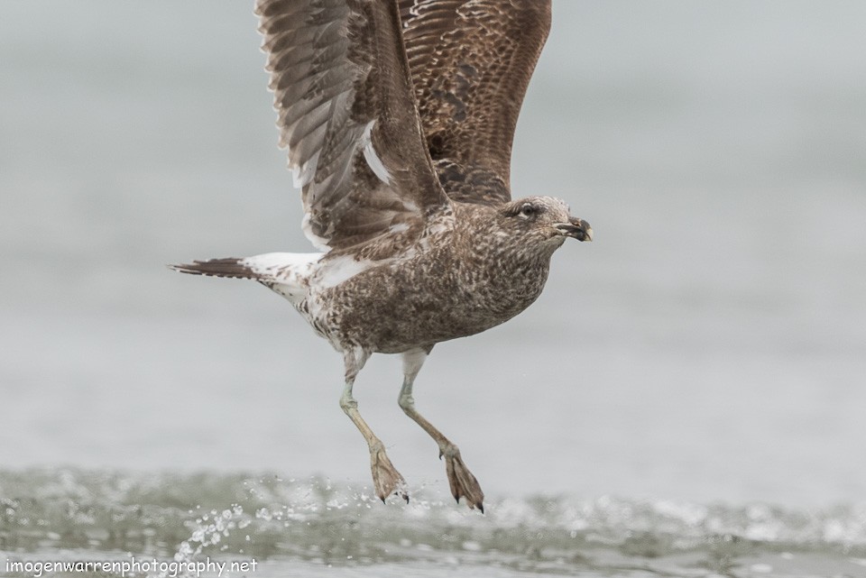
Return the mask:
POLYGON ((297 305, 306 297, 309 276, 321 257, 320 252, 269 252, 243 259, 192 261, 169 267, 192 275, 256 280, 297 305))

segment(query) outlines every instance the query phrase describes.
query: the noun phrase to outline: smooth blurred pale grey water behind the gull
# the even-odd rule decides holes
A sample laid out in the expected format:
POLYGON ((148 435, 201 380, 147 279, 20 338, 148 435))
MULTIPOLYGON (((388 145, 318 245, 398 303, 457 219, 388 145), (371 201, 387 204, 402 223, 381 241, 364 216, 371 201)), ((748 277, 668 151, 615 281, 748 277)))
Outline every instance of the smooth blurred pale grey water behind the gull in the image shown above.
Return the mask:
MULTIPOLYGON (((329 345, 265 289, 164 267, 309 251, 251 4, 0 4, 3 470, 369 485, 329 345)), ((494 503, 862 502, 864 26, 855 1, 555 2, 512 185, 596 240, 416 385, 494 503)), ((447 503, 399 384, 374 357, 360 408, 447 503)))

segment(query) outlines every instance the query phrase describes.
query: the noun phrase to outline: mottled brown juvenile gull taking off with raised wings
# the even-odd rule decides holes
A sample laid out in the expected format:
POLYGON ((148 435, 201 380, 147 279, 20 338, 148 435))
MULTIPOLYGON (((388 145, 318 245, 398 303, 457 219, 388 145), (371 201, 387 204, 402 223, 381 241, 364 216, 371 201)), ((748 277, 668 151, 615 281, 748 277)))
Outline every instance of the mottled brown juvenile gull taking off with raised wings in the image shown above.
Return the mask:
POLYGON ((550 257, 592 229, 553 197, 511 200, 511 142, 550 29, 549 0, 257 0, 280 145, 321 251, 176 265, 257 280, 343 354, 340 407, 383 501, 403 477, 358 412, 355 377, 400 353, 399 403, 439 447, 451 493, 484 511, 460 451, 415 408, 435 344, 539 297, 550 257))

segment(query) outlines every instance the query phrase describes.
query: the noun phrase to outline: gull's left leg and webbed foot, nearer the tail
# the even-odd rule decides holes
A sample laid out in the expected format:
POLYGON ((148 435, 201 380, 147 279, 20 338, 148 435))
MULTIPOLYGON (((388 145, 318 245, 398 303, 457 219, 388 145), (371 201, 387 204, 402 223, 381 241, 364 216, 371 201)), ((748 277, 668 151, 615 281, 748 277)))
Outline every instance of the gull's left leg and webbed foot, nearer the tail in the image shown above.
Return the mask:
POLYGON ((382 440, 373 434, 373 430, 367 426, 364 417, 358 411, 358 402, 352 397, 352 386, 355 385, 355 378, 358 372, 364 367, 364 363, 369 359, 370 353, 364 352, 362 349, 347 351, 343 355, 345 362, 345 388, 343 395, 340 397, 340 408, 343 408, 345 415, 352 420, 361 431, 361 435, 367 440, 367 445, 370 447, 370 469, 373 472, 373 487, 376 495, 380 500, 385 501, 385 498, 392 493, 402 496, 406 501, 409 501, 409 494, 406 493, 406 481, 400 475, 388 459, 388 454, 385 454, 385 446, 382 440))

